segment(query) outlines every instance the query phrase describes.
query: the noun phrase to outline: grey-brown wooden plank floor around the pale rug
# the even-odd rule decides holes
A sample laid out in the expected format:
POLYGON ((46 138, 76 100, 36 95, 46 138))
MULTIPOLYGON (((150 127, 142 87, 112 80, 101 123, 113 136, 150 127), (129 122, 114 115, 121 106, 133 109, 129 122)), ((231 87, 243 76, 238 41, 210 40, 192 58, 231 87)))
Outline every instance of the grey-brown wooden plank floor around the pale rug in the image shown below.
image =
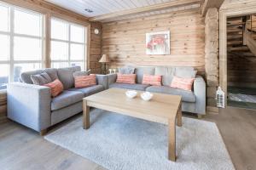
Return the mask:
MULTIPOLYGON (((204 119, 217 123, 237 170, 256 169, 256 111, 228 108, 204 119)), ((29 128, 5 122, 0 124, 0 169, 104 168, 44 140, 29 128)))

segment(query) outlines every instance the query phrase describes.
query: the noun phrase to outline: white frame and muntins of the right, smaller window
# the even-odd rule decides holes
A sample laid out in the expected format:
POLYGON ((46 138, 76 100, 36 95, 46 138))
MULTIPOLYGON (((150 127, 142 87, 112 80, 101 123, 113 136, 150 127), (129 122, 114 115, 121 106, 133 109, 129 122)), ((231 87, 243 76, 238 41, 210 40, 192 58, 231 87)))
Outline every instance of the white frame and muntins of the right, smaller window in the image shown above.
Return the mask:
MULTIPOLYGON (((87 57, 88 57, 88 53, 87 53, 87 50, 88 50, 88 26, 79 25, 78 23, 71 22, 69 20, 63 20, 63 19, 55 17, 55 16, 52 16, 50 18, 50 23, 51 23, 52 20, 57 20, 57 21, 60 21, 60 22, 63 22, 65 24, 67 24, 67 40, 52 38, 51 33, 49 35, 50 44, 51 44, 52 41, 54 41, 54 42, 66 42, 67 43, 67 59, 66 60, 64 60, 64 59, 63 60, 51 59, 51 53, 50 53, 50 63, 51 63, 51 65, 54 64, 54 63, 67 63, 68 66, 71 66, 71 63, 79 62, 79 63, 82 63, 82 70, 87 70, 86 62, 87 62, 87 57), (71 41, 71 26, 79 26, 79 27, 84 28, 84 42, 73 42, 73 41, 71 41), (79 44, 79 45, 84 46, 84 54, 83 54, 84 57, 83 57, 83 59, 71 59, 71 48, 70 48, 71 44, 79 44)), ((50 30, 51 30, 51 26, 50 26, 50 30)), ((50 45, 50 47, 51 47, 51 45, 50 45)), ((52 49, 50 49, 50 51, 51 50, 52 49)))

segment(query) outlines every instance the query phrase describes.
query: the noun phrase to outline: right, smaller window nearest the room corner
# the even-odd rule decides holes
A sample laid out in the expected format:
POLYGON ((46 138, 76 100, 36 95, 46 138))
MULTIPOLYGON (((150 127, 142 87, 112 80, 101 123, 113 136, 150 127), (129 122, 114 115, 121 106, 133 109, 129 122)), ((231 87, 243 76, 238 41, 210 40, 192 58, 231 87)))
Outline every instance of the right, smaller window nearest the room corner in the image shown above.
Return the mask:
POLYGON ((51 66, 81 66, 86 56, 85 27, 65 20, 51 19, 51 66))

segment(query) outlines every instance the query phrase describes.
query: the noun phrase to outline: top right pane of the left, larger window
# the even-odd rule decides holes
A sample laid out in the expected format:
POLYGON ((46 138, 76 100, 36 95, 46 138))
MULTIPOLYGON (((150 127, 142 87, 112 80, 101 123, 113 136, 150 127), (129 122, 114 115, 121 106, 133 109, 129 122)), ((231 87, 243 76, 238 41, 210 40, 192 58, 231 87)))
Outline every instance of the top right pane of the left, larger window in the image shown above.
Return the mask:
POLYGON ((42 17, 15 9, 15 33, 41 37, 42 17))

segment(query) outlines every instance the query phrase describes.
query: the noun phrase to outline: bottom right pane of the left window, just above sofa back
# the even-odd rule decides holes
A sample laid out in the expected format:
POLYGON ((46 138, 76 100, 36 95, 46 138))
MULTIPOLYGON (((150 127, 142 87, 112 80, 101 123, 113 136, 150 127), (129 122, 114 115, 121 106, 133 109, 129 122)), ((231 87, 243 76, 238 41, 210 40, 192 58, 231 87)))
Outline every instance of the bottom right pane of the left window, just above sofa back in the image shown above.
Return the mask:
POLYGON ((20 73, 24 71, 34 71, 41 68, 39 63, 25 63, 25 64, 15 64, 14 79, 15 82, 19 81, 20 73))

